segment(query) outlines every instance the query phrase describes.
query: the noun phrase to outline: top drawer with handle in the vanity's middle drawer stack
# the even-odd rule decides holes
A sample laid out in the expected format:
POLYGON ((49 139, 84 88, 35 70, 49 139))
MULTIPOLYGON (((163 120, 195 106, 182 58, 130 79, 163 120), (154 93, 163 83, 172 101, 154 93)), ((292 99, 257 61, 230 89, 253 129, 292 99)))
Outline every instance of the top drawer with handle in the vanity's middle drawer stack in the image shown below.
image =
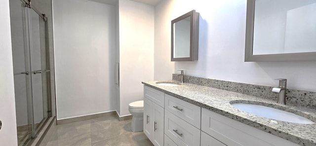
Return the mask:
POLYGON ((201 121, 201 108, 183 101, 181 99, 177 99, 168 94, 164 95, 165 97, 165 110, 175 114, 181 119, 187 121, 193 126, 200 129, 200 121, 201 121))

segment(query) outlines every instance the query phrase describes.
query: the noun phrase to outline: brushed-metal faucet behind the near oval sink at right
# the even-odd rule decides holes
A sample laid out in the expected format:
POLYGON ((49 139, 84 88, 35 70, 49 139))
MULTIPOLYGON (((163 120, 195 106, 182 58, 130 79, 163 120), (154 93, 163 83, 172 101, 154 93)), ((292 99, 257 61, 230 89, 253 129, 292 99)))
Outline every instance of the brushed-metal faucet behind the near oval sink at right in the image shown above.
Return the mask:
POLYGON ((274 87, 272 89, 272 92, 278 93, 276 103, 285 105, 286 79, 285 78, 277 78, 276 80, 278 80, 278 87, 274 87))

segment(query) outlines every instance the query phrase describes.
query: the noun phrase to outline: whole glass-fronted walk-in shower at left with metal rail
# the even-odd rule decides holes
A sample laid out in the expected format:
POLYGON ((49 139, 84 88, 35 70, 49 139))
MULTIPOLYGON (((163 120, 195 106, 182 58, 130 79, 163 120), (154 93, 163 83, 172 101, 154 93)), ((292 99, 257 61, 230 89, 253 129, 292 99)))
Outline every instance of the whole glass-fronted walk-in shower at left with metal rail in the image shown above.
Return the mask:
POLYGON ((10 0, 18 145, 28 146, 51 117, 48 25, 31 0, 10 0))

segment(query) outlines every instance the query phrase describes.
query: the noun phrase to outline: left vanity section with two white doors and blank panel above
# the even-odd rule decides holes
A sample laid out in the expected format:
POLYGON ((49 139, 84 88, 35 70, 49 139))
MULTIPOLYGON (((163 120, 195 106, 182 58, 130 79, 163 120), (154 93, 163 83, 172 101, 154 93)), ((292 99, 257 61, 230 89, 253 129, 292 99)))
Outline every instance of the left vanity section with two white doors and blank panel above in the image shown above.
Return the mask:
POLYGON ((163 146, 164 93, 144 86, 144 133, 155 146, 163 146))

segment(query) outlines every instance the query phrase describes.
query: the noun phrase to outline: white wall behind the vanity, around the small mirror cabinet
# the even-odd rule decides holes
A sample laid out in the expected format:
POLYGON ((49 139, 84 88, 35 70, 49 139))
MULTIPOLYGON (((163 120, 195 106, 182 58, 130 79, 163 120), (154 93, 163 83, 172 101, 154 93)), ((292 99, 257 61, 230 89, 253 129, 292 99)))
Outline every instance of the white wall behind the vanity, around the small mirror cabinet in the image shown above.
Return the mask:
POLYGON ((316 62, 244 62, 246 0, 163 0, 155 7, 155 80, 188 75, 316 91, 316 62), (199 56, 195 62, 170 62, 171 20, 200 13, 199 56))

